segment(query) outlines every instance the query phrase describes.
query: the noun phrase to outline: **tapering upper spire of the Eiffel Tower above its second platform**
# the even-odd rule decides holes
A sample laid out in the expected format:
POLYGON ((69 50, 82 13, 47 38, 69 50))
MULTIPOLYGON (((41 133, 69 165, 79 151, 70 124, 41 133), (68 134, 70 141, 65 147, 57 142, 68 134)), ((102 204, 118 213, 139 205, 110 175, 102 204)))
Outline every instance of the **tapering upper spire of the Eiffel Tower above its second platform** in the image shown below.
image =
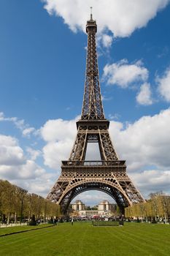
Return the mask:
POLYGON ((82 104, 82 119, 104 119, 104 109, 101 102, 101 89, 98 77, 98 59, 96 52, 96 20, 92 12, 86 24, 88 34, 88 50, 85 73, 85 93, 82 104))

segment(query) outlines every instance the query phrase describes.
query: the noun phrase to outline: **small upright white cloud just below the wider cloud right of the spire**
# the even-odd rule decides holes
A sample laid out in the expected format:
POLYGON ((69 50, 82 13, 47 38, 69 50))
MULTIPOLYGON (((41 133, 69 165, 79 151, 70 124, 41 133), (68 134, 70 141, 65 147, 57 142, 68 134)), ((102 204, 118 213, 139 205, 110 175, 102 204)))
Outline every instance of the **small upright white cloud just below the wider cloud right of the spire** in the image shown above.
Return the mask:
POLYGON ((139 94, 136 96, 136 101, 141 105, 152 105, 150 83, 142 84, 139 94))

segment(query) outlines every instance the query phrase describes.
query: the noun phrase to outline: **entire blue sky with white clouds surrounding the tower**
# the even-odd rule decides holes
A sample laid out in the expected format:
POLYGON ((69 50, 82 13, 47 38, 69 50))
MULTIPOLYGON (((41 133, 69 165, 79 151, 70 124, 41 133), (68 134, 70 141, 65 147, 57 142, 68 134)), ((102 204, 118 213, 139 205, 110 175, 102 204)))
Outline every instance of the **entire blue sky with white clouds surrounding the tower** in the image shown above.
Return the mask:
MULTIPOLYGON (((168 0, 1 0, 0 178, 44 196, 58 178, 82 108, 91 5, 115 149, 145 197, 169 194, 168 0)), ((80 196, 89 204, 105 198, 80 196)))

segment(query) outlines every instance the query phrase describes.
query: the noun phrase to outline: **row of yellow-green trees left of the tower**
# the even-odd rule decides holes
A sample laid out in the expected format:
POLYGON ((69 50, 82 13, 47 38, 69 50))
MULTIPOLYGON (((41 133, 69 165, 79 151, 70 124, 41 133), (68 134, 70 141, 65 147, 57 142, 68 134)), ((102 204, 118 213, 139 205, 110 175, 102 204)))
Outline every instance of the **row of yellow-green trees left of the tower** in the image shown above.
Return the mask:
POLYGON ((29 194, 26 189, 0 180, 0 221, 22 222, 36 219, 50 219, 58 217, 60 208, 50 200, 36 194, 29 194))

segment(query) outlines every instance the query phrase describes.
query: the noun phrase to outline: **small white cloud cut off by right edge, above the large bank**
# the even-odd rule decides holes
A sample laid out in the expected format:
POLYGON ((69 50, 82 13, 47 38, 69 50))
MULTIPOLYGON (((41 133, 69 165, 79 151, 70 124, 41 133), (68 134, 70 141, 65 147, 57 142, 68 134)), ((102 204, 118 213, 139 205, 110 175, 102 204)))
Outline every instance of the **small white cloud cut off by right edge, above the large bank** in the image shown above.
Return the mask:
POLYGON ((170 67, 166 69, 166 72, 161 78, 157 77, 156 81, 158 83, 159 93, 166 102, 170 102, 170 67))

